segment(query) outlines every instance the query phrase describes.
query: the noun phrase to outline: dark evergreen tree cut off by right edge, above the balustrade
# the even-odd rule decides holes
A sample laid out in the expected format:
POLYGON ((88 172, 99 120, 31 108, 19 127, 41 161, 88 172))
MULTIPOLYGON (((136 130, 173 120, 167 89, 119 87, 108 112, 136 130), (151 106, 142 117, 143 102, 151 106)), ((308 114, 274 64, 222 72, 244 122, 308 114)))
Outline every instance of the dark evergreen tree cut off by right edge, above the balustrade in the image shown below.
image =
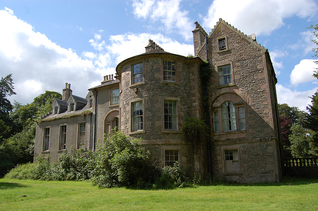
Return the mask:
POLYGON ((311 148, 313 154, 318 156, 318 91, 311 97, 312 105, 307 106, 309 114, 307 115, 306 127, 312 134, 311 148))

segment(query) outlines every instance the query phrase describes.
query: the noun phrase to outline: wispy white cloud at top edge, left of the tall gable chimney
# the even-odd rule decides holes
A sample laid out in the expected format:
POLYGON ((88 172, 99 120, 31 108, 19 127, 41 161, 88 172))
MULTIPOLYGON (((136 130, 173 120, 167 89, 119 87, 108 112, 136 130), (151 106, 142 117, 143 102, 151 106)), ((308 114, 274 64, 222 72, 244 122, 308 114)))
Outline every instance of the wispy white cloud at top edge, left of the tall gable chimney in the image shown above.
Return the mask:
POLYGON ((134 14, 137 18, 150 19, 150 24, 160 21, 164 32, 178 33, 186 40, 192 38, 194 21, 188 17, 188 11, 181 10, 182 0, 134 0, 134 14))

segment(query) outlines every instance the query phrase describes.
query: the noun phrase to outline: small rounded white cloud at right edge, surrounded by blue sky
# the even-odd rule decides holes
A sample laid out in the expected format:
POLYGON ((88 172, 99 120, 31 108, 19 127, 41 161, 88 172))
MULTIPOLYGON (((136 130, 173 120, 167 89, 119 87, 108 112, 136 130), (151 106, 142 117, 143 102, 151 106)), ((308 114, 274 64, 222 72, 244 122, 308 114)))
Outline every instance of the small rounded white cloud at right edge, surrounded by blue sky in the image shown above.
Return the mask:
POLYGON ((315 59, 303 59, 296 64, 290 74, 290 83, 297 86, 300 83, 317 80, 313 76, 315 68, 318 67, 314 61, 315 59))

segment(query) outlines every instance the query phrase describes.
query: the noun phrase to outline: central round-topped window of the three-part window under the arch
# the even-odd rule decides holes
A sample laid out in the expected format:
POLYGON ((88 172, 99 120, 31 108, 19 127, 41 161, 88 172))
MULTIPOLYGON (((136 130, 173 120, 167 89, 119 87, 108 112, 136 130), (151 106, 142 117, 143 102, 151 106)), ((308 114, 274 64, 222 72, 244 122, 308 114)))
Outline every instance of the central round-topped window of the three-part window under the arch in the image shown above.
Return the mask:
POLYGON ((231 101, 222 104, 223 131, 237 130, 235 107, 231 101))

